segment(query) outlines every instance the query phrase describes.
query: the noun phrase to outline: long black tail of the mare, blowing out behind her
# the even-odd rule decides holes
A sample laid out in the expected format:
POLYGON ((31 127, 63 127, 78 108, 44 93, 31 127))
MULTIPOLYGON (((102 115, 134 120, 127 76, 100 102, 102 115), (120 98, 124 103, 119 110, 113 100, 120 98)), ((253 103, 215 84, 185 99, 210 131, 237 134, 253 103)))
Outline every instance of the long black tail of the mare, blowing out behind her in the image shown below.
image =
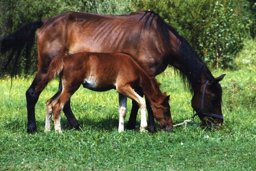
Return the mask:
POLYGON ((3 39, 0 39, 0 56, 12 49, 0 73, 0 76, 5 72, 8 64, 15 56, 15 62, 11 73, 11 77, 13 76, 15 67, 17 66, 18 59, 24 48, 24 54, 26 58, 25 71, 28 71, 30 52, 35 42, 35 32, 36 29, 40 28, 43 24, 43 21, 36 21, 33 23, 26 24, 22 26, 20 29, 18 29, 15 33, 10 34, 9 36, 4 37, 3 39))

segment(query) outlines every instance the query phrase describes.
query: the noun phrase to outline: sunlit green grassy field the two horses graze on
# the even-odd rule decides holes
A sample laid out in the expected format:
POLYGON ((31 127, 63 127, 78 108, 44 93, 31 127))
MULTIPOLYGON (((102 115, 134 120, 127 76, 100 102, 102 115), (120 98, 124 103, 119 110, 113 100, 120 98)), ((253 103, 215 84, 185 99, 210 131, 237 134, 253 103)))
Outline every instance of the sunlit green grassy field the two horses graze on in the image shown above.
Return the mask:
MULTIPOLYGON (((58 88, 54 80, 36 105, 38 132, 27 134, 25 91, 33 78, 13 79, 11 90, 10 79, 2 79, 0 170, 256 170, 255 67, 246 62, 238 58, 239 65, 248 69, 212 71, 215 77, 227 74, 220 82, 225 117, 220 131, 202 130, 196 117, 186 130, 182 125, 168 133, 141 133, 138 116, 135 131, 119 133, 118 93, 80 87, 71 98, 71 108, 83 130, 72 130, 62 113, 63 134, 44 133, 45 103, 58 88)), ((192 116, 191 95, 173 68, 157 79, 161 90, 171 95, 174 124, 192 116)), ((130 110, 128 100, 125 124, 130 110)))

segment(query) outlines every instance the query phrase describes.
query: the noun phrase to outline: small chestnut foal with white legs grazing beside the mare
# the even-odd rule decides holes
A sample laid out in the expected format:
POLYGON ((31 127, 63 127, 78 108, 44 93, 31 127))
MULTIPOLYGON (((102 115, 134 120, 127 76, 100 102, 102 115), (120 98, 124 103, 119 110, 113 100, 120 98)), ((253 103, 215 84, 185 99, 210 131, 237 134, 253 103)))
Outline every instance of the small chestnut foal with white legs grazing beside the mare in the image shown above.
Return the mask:
POLYGON ((45 131, 51 129, 53 113, 55 130, 61 133, 60 113, 81 84, 93 91, 116 89, 119 93, 119 132, 124 131, 127 97, 136 101, 141 108, 140 130, 147 128, 146 103, 134 88, 142 89, 160 127, 164 131, 172 131, 173 120, 168 103, 170 96, 166 92, 162 93, 155 78, 150 78, 145 73, 148 69, 142 68, 130 56, 121 53, 78 52, 55 58, 50 63, 47 74, 35 88, 36 92, 43 90, 56 73, 60 73, 62 89, 46 102, 45 131))

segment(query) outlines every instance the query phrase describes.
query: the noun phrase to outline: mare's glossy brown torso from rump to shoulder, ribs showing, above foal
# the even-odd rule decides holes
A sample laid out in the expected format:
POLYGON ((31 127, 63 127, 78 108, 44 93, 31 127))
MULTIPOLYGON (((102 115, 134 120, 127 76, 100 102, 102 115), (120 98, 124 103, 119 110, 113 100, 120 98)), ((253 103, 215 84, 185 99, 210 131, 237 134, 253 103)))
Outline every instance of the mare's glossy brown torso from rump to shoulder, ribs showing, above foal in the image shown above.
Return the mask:
POLYGON ((87 51, 131 54, 152 70, 162 70, 155 69, 160 65, 154 63, 161 62, 166 53, 162 48, 163 41, 159 39, 156 22, 145 27, 150 21, 144 14, 102 15, 69 11, 43 20, 44 25, 37 31, 39 67, 47 68, 47 61, 57 56, 87 51))

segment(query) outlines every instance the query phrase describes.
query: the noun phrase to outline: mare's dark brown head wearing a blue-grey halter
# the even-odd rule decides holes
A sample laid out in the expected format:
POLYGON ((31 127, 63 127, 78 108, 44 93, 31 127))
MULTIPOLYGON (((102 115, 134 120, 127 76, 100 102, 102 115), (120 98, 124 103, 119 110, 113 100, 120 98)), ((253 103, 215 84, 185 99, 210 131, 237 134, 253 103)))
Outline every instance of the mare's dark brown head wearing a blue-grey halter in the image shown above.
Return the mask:
POLYGON ((223 115, 221 112, 222 90, 219 84, 226 74, 223 74, 215 80, 203 81, 194 92, 191 100, 192 108, 197 112, 203 128, 209 126, 215 129, 221 128, 223 124, 223 115))

